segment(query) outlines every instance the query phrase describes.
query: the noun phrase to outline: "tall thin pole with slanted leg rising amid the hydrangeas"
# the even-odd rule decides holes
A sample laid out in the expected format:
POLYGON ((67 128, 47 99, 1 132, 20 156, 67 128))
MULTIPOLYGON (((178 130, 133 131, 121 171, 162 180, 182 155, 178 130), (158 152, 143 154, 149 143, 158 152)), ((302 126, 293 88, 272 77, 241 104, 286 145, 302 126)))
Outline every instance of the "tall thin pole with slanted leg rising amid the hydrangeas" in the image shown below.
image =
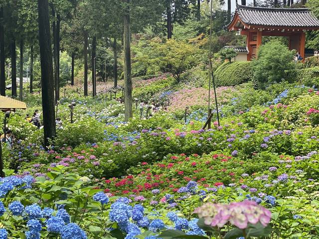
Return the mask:
POLYGON ((215 79, 214 79, 214 72, 213 72, 213 65, 212 65, 212 24, 213 24, 213 0, 210 0, 210 31, 209 31, 209 82, 208 82, 208 114, 210 110, 210 85, 211 80, 213 81, 213 88, 214 88, 214 95, 215 95, 215 104, 216 104, 216 112, 217 112, 217 122, 218 126, 220 126, 219 123, 219 112, 218 112, 218 104, 217 104, 217 95, 216 95, 216 85, 215 85, 215 79))

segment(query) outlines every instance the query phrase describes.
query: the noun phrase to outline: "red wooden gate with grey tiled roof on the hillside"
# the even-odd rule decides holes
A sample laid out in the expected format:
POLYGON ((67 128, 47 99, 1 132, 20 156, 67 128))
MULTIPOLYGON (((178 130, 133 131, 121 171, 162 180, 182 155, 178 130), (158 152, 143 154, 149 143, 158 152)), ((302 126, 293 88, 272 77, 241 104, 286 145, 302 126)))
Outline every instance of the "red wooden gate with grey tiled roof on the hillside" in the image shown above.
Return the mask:
MULTIPOLYGON (((267 8, 237 5, 227 26, 238 35, 247 36, 247 60, 257 54, 263 36, 288 37, 289 49, 305 58, 306 32, 319 30, 319 19, 308 8, 267 8)), ((274 52, 274 54, 276 54, 274 52)))

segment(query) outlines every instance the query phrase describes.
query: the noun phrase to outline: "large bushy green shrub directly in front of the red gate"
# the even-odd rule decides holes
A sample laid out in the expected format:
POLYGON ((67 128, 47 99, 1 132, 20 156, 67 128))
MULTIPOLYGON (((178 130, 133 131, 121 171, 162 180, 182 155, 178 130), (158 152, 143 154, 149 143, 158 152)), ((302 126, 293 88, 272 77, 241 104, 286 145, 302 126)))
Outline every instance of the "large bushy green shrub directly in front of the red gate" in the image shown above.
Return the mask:
POLYGON ((252 64, 258 87, 264 89, 267 85, 284 79, 285 70, 295 68, 294 55, 294 51, 276 41, 260 46, 258 58, 252 64))

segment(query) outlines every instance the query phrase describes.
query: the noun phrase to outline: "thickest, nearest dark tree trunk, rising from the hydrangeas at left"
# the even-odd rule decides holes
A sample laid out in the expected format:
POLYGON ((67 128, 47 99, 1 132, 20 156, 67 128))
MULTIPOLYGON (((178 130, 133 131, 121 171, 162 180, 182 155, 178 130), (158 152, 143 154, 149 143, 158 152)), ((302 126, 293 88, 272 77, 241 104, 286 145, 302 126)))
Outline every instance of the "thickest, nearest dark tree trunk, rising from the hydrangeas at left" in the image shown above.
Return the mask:
POLYGON ((53 65, 48 0, 38 0, 44 143, 55 136, 53 65))

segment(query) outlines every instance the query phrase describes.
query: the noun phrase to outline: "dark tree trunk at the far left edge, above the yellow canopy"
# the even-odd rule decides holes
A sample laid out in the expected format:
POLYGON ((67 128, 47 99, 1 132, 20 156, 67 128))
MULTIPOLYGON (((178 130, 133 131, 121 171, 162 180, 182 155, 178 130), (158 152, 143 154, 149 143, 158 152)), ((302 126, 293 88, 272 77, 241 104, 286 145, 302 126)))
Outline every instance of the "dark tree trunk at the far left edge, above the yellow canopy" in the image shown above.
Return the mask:
POLYGON ((0 8, 0 95, 5 96, 3 7, 0 8))

